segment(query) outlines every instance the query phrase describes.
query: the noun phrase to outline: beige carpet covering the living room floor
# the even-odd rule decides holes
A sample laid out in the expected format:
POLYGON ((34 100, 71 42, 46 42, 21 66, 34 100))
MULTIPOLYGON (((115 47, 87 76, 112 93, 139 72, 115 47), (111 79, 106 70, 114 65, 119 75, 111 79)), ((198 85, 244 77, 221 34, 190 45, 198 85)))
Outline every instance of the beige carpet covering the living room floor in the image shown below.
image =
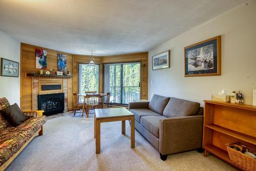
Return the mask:
POLYGON ((35 137, 6 170, 237 170, 214 156, 196 151, 169 155, 158 151, 135 132, 130 148, 130 125, 121 134, 121 122, 101 124, 101 153, 95 154, 93 114, 62 115, 49 119, 44 135, 35 137))

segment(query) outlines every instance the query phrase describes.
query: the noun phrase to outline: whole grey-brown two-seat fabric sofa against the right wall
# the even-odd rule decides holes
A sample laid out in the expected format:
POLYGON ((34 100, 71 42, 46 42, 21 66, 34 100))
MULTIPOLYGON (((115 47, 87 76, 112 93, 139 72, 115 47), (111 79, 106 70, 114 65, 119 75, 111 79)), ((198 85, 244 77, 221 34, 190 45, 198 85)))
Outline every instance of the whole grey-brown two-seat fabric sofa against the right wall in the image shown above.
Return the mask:
POLYGON ((203 108, 200 103, 154 95, 150 102, 131 102, 135 128, 160 152, 202 149, 203 108))

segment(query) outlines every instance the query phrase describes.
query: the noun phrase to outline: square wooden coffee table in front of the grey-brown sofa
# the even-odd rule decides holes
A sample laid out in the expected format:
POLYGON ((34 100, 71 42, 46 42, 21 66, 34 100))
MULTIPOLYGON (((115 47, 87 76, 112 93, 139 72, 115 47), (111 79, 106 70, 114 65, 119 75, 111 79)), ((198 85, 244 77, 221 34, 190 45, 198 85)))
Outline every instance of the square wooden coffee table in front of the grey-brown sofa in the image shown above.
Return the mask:
POLYGON ((96 138, 96 154, 100 153, 100 123, 122 121, 122 134, 125 134, 125 120, 131 120, 131 148, 134 148, 134 114, 125 108, 95 109, 94 138, 96 138))

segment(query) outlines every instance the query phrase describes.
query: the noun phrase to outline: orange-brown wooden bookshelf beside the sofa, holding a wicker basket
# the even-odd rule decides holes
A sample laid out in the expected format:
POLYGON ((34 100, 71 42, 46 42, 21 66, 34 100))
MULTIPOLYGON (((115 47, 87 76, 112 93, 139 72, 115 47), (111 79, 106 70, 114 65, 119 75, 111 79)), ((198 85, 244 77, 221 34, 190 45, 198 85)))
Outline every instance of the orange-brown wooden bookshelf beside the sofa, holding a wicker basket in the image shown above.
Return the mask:
MULTIPOLYGON (((213 154, 234 165, 225 144, 241 142, 256 149, 256 107, 213 100, 204 100, 204 156, 213 154)), ((241 170, 244 168, 234 165, 241 170)))

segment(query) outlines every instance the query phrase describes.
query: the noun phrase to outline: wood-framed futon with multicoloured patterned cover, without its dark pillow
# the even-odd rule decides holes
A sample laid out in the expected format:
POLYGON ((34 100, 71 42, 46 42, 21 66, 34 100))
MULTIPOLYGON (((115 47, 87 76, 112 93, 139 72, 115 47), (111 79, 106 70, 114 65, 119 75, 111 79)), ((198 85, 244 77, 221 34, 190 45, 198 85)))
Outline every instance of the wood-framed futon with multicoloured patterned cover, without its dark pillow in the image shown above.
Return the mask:
POLYGON ((0 98, 0 170, 4 170, 28 143, 37 135, 42 135, 42 125, 46 122, 44 111, 26 111, 28 119, 13 127, 1 114, 10 103, 0 98))

